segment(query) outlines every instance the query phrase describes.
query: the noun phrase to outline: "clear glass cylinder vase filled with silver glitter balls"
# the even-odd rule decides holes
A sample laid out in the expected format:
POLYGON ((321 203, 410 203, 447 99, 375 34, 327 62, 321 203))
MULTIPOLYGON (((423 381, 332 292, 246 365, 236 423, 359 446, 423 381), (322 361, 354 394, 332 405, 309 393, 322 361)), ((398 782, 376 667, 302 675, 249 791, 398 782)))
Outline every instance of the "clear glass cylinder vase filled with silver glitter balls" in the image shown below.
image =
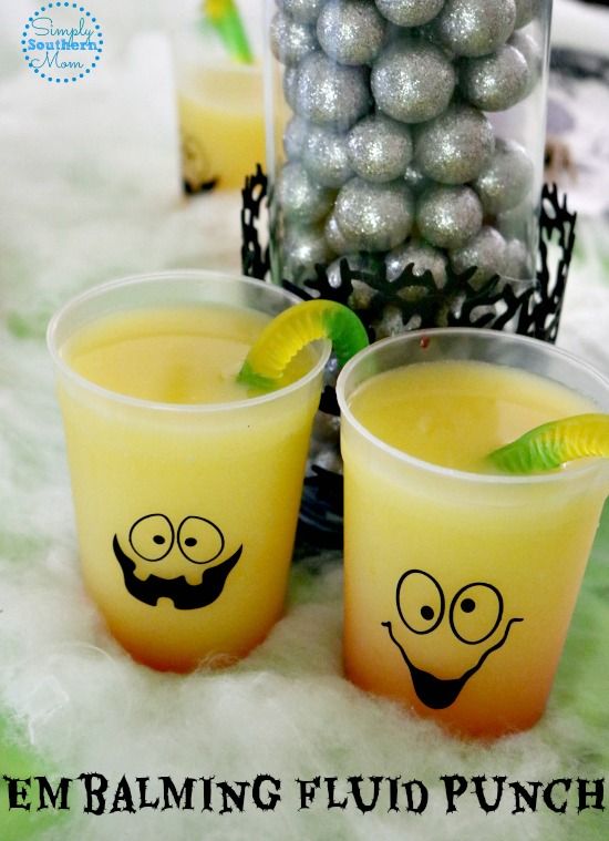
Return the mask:
POLYGON ((344 298, 374 338, 451 324, 495 276, 495 291, 533 285, 550 13, 267 0, 273 279, 302 285, 322 265, 338 287, 347 258, 364 279, 344 298), (401 306, 431 299, 431 321, 401 306))

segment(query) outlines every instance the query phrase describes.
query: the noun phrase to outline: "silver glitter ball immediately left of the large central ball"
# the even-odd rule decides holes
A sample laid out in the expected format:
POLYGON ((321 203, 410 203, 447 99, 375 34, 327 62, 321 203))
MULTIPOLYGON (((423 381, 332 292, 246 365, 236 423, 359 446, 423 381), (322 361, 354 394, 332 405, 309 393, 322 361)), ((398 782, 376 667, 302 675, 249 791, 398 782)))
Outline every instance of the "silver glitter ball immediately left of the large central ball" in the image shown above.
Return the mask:
POLYGON ((370 110, 365 68, 336 64, 321 52, 307 55, 298 72, 296 110, 317 125, 347 131, 370 110))

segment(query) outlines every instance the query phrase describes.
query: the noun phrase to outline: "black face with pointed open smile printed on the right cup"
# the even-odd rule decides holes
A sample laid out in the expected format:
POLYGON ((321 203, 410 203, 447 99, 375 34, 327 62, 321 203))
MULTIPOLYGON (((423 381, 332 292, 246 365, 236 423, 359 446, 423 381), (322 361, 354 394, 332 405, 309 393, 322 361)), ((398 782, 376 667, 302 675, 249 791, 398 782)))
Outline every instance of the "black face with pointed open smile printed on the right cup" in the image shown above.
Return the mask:
MULTIPOLYGON (((402 623, 416 637, 432 635, 446 619, 444 591, 433 575, 423 570, 409 570, 402 575, 398 582, 395 602, 402 623)), ((472 646, 472 650, 479 646, 474 653, 474 665, 460 677, 448 679, 415 666, 406 648, 398 640, 392 623, 382 623, 409 667, 416 697, 431 709, 446 709, 454 704, 467 680, 482 668, 493 652, 505 645, 512 626, 523 622, 523 618, 508 619, 502 632, 504 599, 500 592, 493 584, 474 582, 453 596, 447 621, 458 643, 472 646)))

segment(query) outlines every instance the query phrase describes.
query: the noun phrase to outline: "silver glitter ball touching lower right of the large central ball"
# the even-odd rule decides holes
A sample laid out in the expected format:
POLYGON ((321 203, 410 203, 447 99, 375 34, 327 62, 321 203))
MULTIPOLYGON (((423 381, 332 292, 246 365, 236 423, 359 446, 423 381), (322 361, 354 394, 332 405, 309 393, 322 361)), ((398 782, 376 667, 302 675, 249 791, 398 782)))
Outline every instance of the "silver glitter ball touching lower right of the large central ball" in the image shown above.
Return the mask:
POLYGON ((415 162, 442 184, 473 181, 495 148, 493 126, 471 105, 451 105, 416 132, 415 162))

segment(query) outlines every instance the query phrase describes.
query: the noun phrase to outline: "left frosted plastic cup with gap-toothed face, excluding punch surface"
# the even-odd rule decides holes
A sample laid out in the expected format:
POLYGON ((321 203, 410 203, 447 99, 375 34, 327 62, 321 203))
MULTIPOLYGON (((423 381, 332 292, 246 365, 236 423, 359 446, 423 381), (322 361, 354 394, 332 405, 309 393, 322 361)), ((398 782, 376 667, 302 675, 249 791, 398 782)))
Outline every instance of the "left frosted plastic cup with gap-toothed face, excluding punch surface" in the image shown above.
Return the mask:
POLYGON ((314 346, 290 386, 194 404, 101 388, 62 348, 116 312, 215 304, 276 316, 298 300, 248 278, 163 273, 91 289, 49 326, 84 582, 110 630, 149 666, 234 661, 281 616, 329 346, 314 346))

